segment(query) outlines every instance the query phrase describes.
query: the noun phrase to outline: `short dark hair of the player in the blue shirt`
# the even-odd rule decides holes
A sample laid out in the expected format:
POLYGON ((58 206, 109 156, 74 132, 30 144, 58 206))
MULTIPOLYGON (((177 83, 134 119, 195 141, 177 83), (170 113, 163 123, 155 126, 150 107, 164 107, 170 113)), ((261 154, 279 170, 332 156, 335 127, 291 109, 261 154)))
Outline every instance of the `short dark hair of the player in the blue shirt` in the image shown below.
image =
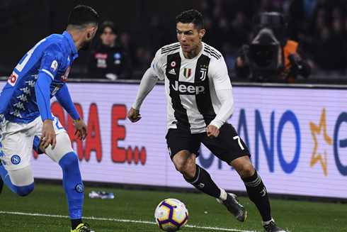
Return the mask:
POLYGON ((67 20, 68 27, 84 29, 90 23, 95 23, 96 25, 99 23, 98 13, 90 6, 79 5, 70 11, 69 19, 67 20))

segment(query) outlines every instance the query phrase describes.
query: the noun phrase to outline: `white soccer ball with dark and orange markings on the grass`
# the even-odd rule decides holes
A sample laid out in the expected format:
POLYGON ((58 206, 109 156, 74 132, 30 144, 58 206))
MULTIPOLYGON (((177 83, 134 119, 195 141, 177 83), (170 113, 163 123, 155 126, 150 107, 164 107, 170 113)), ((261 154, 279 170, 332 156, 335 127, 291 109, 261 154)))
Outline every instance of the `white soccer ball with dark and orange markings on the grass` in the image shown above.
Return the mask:
POLYGON ((164 199, 155 209, 154 217, 163 231, 178 231, 188 221, 188 209, 178 199, 164 199))

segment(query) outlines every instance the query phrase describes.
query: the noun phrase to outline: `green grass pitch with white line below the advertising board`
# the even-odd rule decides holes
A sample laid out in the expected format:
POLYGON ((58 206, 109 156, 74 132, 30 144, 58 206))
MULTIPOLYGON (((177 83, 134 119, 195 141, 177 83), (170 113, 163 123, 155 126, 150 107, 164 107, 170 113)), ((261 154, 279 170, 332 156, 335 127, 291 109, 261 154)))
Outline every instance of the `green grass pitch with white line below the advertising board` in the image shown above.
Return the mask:
MULTIPOLYGON (((261 217, 251 201, 239 197, 249 212, 240 223, 212 197, 205 194, 151 192, 125 189, 85 189, 83 219, 96 232, 154 231, 154 210, 162 199, 176 198, 186 204, 189 219, 185 231, 263 231, 261 217), (115 199, 91 199, 91 191, 113 192, 115 199)), ((274 219, 290 232, 346 231, 346 204, 272 200, 274 219)), ((0 231, 69 231, 67 202, 62 186, 35 184, 28 197, 18 197, 7 187, 0 194, 0 231)))

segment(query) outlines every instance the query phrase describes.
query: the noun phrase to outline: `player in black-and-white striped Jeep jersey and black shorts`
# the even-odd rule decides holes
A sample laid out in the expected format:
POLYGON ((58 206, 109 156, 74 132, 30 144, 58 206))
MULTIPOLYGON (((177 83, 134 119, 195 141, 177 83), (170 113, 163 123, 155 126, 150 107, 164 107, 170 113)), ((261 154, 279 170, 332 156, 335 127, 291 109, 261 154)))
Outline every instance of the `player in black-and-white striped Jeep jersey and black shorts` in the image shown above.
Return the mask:
POLYGON ((202 41, 205 29, 201 13, 189 10, 177 16, 176 32, 178 43, 159 49, 144 73, 127 117, 132 122, 139 121, 145 97, 158 79, 164 80, 169 129, 166 142, 176 170, 186 182, 217 198, 237 220, 245 221, 247 212, 237 196, 217 187, 209 173, 195 163, 203 143, 239 173, 261 214, 265 231, 283 231, 271 216, 268 193, 251 164, 249 149, 227 123, 234 111, 232 84, 222 54, 202 41))

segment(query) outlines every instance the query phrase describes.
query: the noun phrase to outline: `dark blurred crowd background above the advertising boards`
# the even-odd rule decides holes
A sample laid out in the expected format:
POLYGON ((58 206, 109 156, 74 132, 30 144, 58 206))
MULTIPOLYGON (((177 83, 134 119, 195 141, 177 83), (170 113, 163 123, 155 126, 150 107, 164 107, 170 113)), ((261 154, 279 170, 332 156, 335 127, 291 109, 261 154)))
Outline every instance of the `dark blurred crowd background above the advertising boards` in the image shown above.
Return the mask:
MULTIPOLYGON (((300 43, 312 75, 298 83, 347 84, 347 0, 1 0, 0 76, 11 74, 21 57, 39 40, 62 33, 69 11, 78 4, 95 9, 101 23, 114 21, 118 43, 130 53, 134 75, 140 79, 161 46, 176 39, 176 16, 187 9, 203 13, 203 41, 224 55, 234 82, 234 60, 244 43, 254 38, 256 13, 278 11, 288 16, 288 35, 300 43)), ((101 43, 99 34, 92 46, 101 43)), ((80 51, 69 78, 87 78, 87 52, 80 51)))

